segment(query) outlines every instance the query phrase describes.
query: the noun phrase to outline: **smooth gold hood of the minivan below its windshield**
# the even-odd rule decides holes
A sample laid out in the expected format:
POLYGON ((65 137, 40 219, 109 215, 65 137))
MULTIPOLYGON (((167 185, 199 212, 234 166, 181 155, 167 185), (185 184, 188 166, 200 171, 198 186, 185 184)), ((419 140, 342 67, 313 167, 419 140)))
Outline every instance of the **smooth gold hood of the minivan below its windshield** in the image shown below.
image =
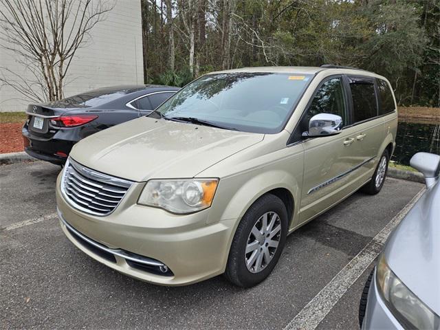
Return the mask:
POLYGON ((84 166, 133 181, 194 177, 263 137, 142 117, 90 135, 70 155, 84 166))

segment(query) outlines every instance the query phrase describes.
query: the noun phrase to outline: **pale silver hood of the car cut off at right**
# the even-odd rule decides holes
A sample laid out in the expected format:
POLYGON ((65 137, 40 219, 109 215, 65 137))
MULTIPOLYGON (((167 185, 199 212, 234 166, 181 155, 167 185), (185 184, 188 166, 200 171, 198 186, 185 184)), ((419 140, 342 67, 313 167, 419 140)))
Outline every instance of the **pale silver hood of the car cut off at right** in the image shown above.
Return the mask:
POLYGON ((386 261, 398 278, 440 315, 440 184, 428 189, 388 239, 386 261))

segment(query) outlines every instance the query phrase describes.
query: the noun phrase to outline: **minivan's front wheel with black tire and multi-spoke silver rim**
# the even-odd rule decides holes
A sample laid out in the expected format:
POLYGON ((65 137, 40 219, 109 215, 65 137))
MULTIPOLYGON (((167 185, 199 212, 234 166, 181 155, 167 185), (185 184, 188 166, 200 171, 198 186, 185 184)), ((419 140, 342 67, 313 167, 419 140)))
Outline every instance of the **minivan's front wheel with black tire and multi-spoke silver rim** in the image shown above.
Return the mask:
POLYGON ((228 281, 239 287, 253 287, 265 280, 283 252, 287 226, 287 210, 281 199, 272 194, 257 199, 246 211, 232 239, 224 274, 228 281), (265 230, 264 221, 267 223, 265 230), (278 244, 275 248, 270 246, 276 241, 278 244), (248 253, 247 247, 250 250, 248 253))

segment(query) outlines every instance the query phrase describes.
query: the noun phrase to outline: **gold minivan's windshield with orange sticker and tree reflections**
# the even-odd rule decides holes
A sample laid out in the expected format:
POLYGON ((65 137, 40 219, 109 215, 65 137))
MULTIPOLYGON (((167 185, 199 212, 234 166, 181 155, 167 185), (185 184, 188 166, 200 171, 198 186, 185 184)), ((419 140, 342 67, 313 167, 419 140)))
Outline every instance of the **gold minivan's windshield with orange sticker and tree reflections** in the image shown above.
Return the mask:
POLYGON ((254 133, 280 132, 312 75, 208 74, 164 102, 153 115, 254 133))

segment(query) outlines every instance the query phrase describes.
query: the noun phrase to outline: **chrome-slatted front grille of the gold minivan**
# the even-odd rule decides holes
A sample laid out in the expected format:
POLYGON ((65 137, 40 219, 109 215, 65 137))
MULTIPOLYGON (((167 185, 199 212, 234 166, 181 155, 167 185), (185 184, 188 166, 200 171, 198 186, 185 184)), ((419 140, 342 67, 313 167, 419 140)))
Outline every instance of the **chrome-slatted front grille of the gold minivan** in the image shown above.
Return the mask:
POLYGON ((97 172, 69 158, 61 179, 65 199, 86 213, 104 216, 115 210, 132 181, 97 172))

